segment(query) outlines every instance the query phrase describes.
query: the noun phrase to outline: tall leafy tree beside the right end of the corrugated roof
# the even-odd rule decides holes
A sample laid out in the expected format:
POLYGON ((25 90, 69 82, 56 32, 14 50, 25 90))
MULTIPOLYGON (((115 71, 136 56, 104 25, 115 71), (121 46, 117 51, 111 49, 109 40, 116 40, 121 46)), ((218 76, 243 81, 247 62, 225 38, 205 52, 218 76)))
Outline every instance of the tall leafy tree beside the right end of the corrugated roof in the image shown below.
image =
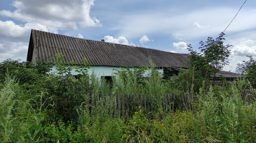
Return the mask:
POLYGON ((222 70, 225 65, 228 65, 227 58, 229 57, 229 47, 232 45, 223 45, 225 34, 221 33, 215 40, 208 37, 206 41, 200 41, 200 53, 192 49, 191 44, 188 45, 190 51, 190 68, 198 70, 205 77, 213 77, 215 84, 216 73, 222 70))

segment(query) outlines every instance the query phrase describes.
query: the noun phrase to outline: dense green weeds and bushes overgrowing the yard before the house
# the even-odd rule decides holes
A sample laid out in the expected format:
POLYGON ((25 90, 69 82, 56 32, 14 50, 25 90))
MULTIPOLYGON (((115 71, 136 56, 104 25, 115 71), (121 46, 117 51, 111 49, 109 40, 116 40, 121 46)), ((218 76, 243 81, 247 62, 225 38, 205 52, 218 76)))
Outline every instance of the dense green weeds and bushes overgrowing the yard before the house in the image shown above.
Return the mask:
POLYGON ((216 70, 198 72, 209 65, 192 63, 179 76, 163 79, 150 62, 150 68, 116 71, 110 85, 88 75, 86 59, 77 66, 64 63, 61 54, 55 58, 53 64, 11 59, 0 63, 0 142, 256 142, 256 89, 250 82, 255 75, 214 86, 208 73, 216 70), (56 71, 50 72, 53 66, 56 71), (251 100, 243 98, 244 90, 251 100), (153 110, 145 114, 139 107, 128 116, 113 118, 87 104, 88 95, 102 93, 149 94, 153 110), (163 110, 166 93, 190 93, 192 109, 179 108, 176 105, 184 103, 177 100, 175 110, 163 110), (92 115, 91 109, 97 113, 92 115))

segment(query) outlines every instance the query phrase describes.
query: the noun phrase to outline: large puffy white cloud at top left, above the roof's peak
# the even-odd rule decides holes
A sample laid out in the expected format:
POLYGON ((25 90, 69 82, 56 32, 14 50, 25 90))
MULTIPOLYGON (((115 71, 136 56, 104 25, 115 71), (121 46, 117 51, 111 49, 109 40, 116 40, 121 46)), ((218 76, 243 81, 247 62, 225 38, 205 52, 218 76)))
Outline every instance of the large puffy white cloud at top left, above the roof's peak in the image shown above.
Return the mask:
POLYGON ((0 10, 1 16, 14 18, 27 24, 41 24, 50 32, 58 29, 102 26, 100 21, 90 17, 94 0, 15 0, 13 12, 0 10))

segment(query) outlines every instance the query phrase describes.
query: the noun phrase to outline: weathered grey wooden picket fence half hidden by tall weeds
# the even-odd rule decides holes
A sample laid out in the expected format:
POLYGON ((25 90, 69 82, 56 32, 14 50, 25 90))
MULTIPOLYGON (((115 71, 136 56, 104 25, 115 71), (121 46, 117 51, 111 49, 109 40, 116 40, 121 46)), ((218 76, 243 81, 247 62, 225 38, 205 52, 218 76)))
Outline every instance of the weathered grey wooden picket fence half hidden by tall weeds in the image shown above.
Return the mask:
MULTIPOLYGON (((241 91, 242 100, 245 102, 255 102, 255 93, 249 90, 241 91)), ((112 117, 125 117, 135 111, 149 113, 153 111, 155 102, 151 95, 146 94, 96 94, 89 95, 87 104, 90 106, 91 114, 98 113, 99 110, 112 117)), ((176 108, 192 110, 192 97, 189 93, 184 94, 164 94, 162 95, 162 109, 164 112, 174 112, 176 108)))

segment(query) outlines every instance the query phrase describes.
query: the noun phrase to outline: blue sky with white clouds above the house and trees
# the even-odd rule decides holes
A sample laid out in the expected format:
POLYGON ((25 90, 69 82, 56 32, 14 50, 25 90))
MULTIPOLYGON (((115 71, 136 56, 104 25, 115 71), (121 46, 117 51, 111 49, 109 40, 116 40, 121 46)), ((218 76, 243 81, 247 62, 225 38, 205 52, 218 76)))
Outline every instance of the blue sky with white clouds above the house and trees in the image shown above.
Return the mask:
MULTIPOLYGON (((189 53, 225 30, 244 0, 0 0, 0 62, 26 61, 31 29, 189 53)), ((224 71, 256 58, 256 0, 225 31, 232 47, 224 71)))

